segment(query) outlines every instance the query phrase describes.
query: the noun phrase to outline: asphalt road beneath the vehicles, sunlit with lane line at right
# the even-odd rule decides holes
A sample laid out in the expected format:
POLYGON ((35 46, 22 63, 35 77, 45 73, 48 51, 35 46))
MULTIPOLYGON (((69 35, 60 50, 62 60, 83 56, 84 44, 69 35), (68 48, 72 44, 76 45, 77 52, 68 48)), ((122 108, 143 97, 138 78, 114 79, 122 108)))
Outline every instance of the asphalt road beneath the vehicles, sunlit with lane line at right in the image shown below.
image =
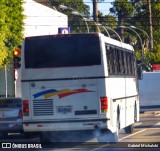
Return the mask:
MULTIPOLYGON (((41 144, 38 136, 32 136, 26 138, 25 135, 20 134, 9 134, 5 139, 1 139, 0 142, 15 142, 17 144, 33 143, 41 144)), ((96 139, 83 142, 80 144, 73 144, 70 148, 59 147, 53 149, 53 145, 50 149, 46 150, 57 150, 57 151, 68 151, 69 150, 87 150, 87 151, 105 151, 105 150, 160 150, 160 112, 145 112, 140 115, 140 121, 135 124, 135 130, 132 134, 125 134, 124 130, 119 132, 119 142, 117 144, 98 144, 95 143, 96 139), (158 143, 159 142, 159 143, 158 143), (152 147, 152 148, 151 148, 152 147)), ((68 143, 67 143, 68 144, 68 143)), ((64 145, 59 144, 60 145, 64 145)), ((41 149, 38 149, 41 150, 41 149)))

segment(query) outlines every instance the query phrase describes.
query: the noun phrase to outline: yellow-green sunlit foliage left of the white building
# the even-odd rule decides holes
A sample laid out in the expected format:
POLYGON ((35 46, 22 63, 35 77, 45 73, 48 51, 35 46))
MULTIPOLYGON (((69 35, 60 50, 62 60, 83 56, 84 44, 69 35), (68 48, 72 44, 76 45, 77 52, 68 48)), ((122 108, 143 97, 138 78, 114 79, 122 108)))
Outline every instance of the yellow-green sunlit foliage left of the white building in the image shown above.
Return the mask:
POLYGON ((0 0, 0 68, 11 61, 13 49, 23 38, 21 0, 0 0))

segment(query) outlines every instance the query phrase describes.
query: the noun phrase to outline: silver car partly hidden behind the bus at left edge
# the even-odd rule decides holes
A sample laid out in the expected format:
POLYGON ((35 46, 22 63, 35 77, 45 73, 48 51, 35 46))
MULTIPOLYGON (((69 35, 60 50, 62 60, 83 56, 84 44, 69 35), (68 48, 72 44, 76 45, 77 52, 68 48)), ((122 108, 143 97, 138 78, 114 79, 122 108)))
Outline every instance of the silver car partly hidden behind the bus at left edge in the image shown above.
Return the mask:
POLYGON ((23 132, 21 98, 0 98, 0 136, 23 132))

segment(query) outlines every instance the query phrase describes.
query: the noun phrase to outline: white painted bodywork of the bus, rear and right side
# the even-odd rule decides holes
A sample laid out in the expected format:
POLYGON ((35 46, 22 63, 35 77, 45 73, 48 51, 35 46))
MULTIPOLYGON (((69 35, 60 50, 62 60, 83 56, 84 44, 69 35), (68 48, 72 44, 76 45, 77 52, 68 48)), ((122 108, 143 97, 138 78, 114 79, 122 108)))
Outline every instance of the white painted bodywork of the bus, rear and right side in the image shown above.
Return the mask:
MULTIPOLYGON (((97 36, 97 34, 84 35, 97 36)), ((72 37, 72 35, 65 36, 72 37)), ((45 39, 46 37, 33 37, 34 40, 36 38, 45 39)), ((85 56, 83 57, 85 61, 82 61, 82 66, 79 66, 79 62, 77 61, 79 58, 72 62, 69 61, 69 66, 66 67, 64 67, 65 64, 63 64, 63 61, 63 65, 60 65, 61 67, 59 67, 57 61, 55 62, 55 67, 48 68, 45 67, 46 65, 39 65, 38 63, 40 62, 31 61, 33 63, 30 63, 29 59, 28 61, 25 61, 25 59, 27 55, 30 56, 33 54, 25 54, 28 48, 25 48, 24 43, 23 50, 25 51, 22 52, 22 58, 24 58, 22 60, 22 98, 29 102, 29 115, 23 118, 24 131, 95 130, 98 127, 99 129, 109 129, 114 133, 117 130, 118 116, 121 123, 120 128, 129 126, 135 122, 135 104, 137 107, 137 121, 139 120, 136 74, 134 71, 132 73, 131 71, 130 73, 126 71, 128 72, 127 74, 111 72, 109 68, 113 68, 113 66, 110 66, 109 63, 113 59, 109 62, 109 58, 107 57, 114 50, 121 57, 122 55, 126 55, 126 58, 129 55, 134 56, 133 48, 130 45, 107 38, 103 34, 98 34, 98 38, 99 47, 97 47, 97 44, 95 47, 99 49, 100 54, 93 54, 93 56, 95 55, 95 58, 100 57, 100 62, 93 61, 95 59, 94 57, 92 58, 93 60, 87 60, 86 58, 90 55, 85 56, 84 54, 80 54, 85 56), (113 49, 114 47, 116 49, 113 49), (111 51, 107 52, 107 49, 111 49, 111 51), (86 65, 86 63, 89 63, 89 65, 86 65), (107 111, 105 112, 102 112, 101 97, 107 99, 107 111)), ((75 39, 73 38, 72 40, 75 39)), ((93 49, 93 46, 87 45, 87 42, 84 44, 85 46, 82 45, 83 47, 78 45, 80 48, 87 48, 86 51, 91 48, 93 49)), ((32 46, 34 43, 30 45, 32 46)), ((68 47, 72 50, 72 45, 68 47)), ((83 49, 81 51, 84 51, 83 49)), ((93 50, 95 51, 95 49, 93 50)), ((58 53, 56 54, 57 56, 61 55, 58 53)), ((92 55, 91 51, 86 53, 92 55)), ((45 53, 43 54, 45 55, 45 53)), ((36 54, 35 60, 38 59, 36 58, 37 55, 41 54, 36 54)), ((65 57, 67 58, 67 56, 65 57)), ((34 59, 34 57, 31 58, 30 60, 34 59)), ((124 63, 126 62, 122 62, 119 68, 122 68, 124 63)), ((116 70, 119 70, 118 67, 116 70)))

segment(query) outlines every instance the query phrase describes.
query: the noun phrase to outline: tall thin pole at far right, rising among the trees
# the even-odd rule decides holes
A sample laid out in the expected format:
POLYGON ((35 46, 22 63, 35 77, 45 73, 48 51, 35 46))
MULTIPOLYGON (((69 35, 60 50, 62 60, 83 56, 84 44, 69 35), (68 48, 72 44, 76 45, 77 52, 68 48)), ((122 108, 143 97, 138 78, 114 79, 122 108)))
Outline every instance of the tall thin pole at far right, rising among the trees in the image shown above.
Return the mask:
POLYGON ((150 36, 150 50, 153 50, 153 29, 152 29, 152 10, 151 1, 147 0, 148 13, 149 13, 149 36, 150 36))

